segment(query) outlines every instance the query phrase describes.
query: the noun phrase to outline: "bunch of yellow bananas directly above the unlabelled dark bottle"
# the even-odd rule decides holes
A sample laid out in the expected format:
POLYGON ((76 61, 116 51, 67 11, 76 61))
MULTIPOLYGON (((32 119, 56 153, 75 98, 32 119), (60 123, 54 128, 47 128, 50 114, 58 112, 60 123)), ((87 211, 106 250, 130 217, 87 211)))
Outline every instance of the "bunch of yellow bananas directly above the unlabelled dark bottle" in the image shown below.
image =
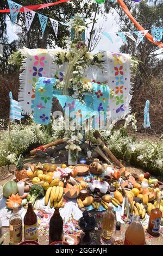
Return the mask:
POLYGON ((60 186, 49 187, 45 195, 45 205, 48 205, 50 199, 51 208, 60 208, 63 204, 64 188, 60 186))

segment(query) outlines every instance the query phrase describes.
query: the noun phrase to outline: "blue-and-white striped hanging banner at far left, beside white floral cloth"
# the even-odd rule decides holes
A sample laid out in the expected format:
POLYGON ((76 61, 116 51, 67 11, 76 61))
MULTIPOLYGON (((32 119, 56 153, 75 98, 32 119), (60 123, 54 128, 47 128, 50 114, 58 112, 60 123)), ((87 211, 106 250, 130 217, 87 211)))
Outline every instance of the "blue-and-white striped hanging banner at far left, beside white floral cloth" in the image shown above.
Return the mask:
POLYGON ((9 97, 10 97, 10 119, 21 120, 23 118, 22 108, 18 105, 18 102, 16 100, 13 100, 11 92, 9 93, 9 97))

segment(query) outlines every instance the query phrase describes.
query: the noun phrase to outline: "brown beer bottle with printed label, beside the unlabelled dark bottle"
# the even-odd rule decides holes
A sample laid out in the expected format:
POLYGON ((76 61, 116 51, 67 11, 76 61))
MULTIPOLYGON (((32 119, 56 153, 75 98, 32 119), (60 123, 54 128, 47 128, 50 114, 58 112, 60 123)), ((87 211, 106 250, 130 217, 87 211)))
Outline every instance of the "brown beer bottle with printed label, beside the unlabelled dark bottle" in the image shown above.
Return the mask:
POLYGON ((28 209, 24 216, 24 240, 38 241, 37 216, 30 203, 28 203, 28 209))

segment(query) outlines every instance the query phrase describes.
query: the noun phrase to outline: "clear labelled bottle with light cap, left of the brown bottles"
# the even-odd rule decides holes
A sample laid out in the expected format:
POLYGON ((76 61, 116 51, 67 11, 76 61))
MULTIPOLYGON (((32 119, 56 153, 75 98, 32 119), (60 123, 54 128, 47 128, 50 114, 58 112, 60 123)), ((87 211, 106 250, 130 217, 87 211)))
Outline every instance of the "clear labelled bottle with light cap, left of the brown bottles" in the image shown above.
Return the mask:
POLYGON ((9 221, 10 245, 22 242, 22 217, 18 213, 18 204, 13 205, 13 214, 9 221))

